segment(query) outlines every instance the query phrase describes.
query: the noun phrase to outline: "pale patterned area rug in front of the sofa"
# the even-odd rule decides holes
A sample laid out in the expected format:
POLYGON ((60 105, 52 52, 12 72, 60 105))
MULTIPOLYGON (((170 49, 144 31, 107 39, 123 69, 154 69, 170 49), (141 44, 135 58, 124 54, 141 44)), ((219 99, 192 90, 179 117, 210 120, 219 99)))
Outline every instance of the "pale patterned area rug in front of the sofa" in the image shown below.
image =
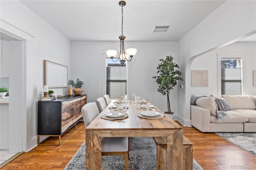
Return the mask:
POLYGON ((256 133, 215 133, 256 156, 256 133))

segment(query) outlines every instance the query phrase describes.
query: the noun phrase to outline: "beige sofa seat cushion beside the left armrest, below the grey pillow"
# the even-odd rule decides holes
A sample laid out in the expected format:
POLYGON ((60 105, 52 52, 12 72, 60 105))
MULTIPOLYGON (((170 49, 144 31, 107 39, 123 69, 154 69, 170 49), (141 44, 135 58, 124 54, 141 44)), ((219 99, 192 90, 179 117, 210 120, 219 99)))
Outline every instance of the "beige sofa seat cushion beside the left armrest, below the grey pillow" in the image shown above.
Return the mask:
POLYGON ((234 111, 226 111, 227 115, 221 120, 216 116, 211 115, 211 123, 245 123, 248 121, 248 117, 234 111))

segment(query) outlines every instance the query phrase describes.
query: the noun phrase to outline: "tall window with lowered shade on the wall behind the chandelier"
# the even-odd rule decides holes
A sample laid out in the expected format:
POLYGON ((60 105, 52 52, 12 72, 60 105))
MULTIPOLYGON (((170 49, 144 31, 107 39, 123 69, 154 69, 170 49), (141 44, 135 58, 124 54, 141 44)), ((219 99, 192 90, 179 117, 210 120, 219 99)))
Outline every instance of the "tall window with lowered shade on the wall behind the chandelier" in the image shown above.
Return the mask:
MULTIPOLYGON (((127 61, 126 61, 127 63, 127 61)), ((113 62, 107 59, 106 62, 106 94, 110 99, 120 99, 127 93, 127 67, 119 61, 113 62)))

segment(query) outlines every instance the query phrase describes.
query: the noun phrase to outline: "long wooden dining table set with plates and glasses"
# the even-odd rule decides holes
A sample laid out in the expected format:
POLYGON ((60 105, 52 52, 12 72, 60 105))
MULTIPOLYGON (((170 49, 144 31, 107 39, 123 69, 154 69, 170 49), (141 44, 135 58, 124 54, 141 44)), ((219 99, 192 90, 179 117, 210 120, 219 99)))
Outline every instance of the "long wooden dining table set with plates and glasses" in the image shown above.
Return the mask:
MULTIPOLYGON (((109 112, 113 101, 86 127, 86 169, 101 169, 101 138, 102 137, 167 137, 167 168, 168 170, 183 169, 183 130, 180 125, 162 113, 161 119, 145 119, 137 116, 133 100, 128 101, 127 122, 106 120, 101 116, 109 112)), ((152 103, 151 103, 152 105, 152 103)), ((138 111, 142 111, 138 109, 138 111)))

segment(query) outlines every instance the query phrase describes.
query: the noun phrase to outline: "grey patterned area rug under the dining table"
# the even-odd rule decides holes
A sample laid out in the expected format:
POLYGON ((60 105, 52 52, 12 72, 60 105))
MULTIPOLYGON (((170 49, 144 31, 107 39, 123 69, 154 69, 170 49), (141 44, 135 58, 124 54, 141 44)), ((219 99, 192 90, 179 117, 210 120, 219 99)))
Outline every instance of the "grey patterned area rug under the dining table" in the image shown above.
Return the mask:
MULTIPOLYGON (((152 137, 130 137, 130 170, 156 169, 156 144, 152 137)), ((102 156, 102 170, 124 170, 124 156, 102 156)), ((85 143, 64 170, 85 170, 85 143)), ((202 167, 193 159, 193 170, 202 167)))

